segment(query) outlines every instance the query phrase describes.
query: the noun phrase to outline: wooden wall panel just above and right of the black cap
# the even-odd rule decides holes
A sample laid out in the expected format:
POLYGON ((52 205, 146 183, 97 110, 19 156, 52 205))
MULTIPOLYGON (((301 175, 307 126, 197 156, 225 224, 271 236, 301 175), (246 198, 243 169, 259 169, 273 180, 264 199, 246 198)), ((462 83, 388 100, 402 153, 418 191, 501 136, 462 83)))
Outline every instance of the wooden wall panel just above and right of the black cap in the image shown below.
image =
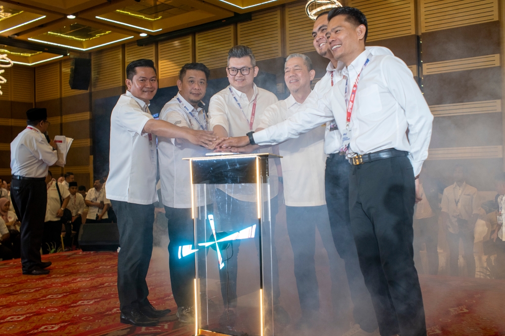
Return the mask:
POLYGON ((60 62, 35 68, 35 101, 60 98, 60 62))

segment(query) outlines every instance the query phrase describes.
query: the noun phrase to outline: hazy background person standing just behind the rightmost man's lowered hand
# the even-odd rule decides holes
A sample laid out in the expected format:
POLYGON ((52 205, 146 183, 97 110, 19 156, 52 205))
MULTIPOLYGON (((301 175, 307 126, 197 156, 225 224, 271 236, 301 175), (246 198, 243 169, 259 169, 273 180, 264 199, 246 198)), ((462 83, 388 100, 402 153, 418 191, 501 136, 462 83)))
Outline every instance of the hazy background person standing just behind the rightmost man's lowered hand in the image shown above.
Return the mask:
POLYGON ((421 254, 423 244, 428 256, 428 273, 438 273, 438 215, 440 202, 438 186, 427 176, 423 169, 419 176, 419 193, 422 200, 416 204, 414 210, 414 262, 418 269, 423 269, 421 254))

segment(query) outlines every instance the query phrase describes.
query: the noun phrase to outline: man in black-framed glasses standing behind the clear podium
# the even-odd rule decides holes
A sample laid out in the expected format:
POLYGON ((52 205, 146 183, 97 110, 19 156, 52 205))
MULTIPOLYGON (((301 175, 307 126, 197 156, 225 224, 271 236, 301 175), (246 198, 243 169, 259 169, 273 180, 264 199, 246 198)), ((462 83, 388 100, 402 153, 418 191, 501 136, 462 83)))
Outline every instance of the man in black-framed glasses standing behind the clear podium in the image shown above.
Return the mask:
MULTIPOLYGON (((228 66, 226 72, 230 85, 212 96, 209 102, 209 128, 219 137, 243 136, 255 130, 265 108, 275 102, 277 97, 270 91, 259 88, 254 83, 259 68, 252 50, 245 45, 236 45, 228 51, 228 66)), ((269 149, 263 151, 268 152, 269 149)), ((270 150, 271 151, 271 150, 270 150)), ((271 195, 271 225, 272 235, 275 230, 275 216, 278 212, 277 192, 278 177, 274 160, 269 161, 270 195, 271 195)), ((256 202, 255 187, 250 185, 234 185, 227 188, 222 185, 216 189, 216 203, 220 214, 221 231, 238 231, 237 222, 255 216, 251 202, 256 202), (232 189, 232 190, 231 190, 232 189), (247 212, 244 209, 251 209, 247 212)), ((255 210, 256 211, 256 210, 255 210)), ((223 326, 233 326, 235 308, 237 305, 237 256, 240 241, 233 242, 233 255, 225 267, 220 269, 221 294, 225 302, 225 311, 220 319, 223 326)), ((272 246, 272 269, 274 286, 274 312, 285 315, 279 305, 280 289, 275 246, 272 246)))

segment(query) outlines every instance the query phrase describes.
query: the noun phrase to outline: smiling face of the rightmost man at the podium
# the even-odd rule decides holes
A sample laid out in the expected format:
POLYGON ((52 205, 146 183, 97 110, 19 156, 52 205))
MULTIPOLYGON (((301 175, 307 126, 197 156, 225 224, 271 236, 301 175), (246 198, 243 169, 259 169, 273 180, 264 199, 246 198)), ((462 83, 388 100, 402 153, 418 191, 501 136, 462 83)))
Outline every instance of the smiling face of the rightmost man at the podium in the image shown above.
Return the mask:
POLYGON ((337 15, 328 22, 326 38, 333 57, 348 66, 365 50, 365 25, 356 25, 347 16, 337 15))

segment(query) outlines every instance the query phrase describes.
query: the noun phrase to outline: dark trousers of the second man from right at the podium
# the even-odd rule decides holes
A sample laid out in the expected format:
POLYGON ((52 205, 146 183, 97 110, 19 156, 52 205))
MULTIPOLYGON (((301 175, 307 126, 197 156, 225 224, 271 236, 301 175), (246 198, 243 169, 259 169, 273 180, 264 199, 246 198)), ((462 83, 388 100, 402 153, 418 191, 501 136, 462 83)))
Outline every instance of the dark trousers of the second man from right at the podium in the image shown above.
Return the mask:
POLYGON ((368 332, 377 329, 372 298, 365 286, 358 251, 352 235, 349 216, 349 172, 351 165, 344 155, 330 155, 326 159, 325 191, 333 242, 345 262, 345 273, 350 297, 354 304, 355 323, 368 332))

